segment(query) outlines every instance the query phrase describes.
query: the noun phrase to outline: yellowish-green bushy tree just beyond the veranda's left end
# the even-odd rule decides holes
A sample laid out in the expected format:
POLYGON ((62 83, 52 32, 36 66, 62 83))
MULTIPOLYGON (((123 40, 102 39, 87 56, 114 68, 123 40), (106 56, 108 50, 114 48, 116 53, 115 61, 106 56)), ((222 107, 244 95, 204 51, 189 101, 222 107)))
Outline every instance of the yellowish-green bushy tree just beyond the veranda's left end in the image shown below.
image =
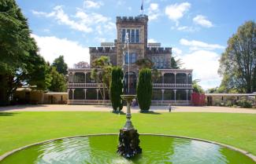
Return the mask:
POLYGON ((65 92, 67 90, 67 82, 64 75, 59 73, 56 67, 51 67, 50 70, 50 86, 48 89, 53 92, 65 92))

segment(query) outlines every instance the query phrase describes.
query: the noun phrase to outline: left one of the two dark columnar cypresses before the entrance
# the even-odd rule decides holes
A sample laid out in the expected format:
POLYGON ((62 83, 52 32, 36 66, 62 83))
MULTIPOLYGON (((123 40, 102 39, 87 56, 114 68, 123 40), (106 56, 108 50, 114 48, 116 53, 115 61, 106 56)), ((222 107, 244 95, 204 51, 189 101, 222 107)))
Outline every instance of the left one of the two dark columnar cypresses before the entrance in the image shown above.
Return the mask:
POLYGON ((123 101, 121 99, 121 94, 123 93, 123 78, 124 73, 121 67, 113 67, 110 82, 110 100, 113 111, 117 111, 117 108, 121 111, 123 108, 123 101))

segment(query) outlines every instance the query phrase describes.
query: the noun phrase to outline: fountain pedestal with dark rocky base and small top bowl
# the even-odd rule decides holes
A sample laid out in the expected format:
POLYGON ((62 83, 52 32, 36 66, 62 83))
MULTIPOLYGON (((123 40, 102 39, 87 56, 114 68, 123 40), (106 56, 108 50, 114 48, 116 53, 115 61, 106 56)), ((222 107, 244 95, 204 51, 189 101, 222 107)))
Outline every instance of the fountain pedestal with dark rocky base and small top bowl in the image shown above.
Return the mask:
POLYGON ((127 102, 127 111, 125 125, 123 129, 120 129, 119 133, 117 152, 125 158, 131 158, 142 152, 142 149, 139 147, 139 133, 134 129, 131 121, 130 104, 135 97, 136 95, 121 95, 121 98, 127 102))

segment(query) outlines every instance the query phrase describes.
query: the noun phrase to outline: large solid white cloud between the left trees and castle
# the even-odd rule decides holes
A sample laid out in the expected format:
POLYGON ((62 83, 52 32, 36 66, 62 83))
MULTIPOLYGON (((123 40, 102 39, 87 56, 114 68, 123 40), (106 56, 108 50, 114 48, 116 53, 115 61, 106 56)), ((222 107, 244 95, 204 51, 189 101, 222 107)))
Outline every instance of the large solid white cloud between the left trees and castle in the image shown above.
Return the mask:
POLYGON ((32 35, 32 37, 39 46, 39 53, 50 63, 60 55, 64 56, 69 67, 73 67, 73 64, 80 61, 90 62, 89 49, 78 42, 55 36, 32 35))

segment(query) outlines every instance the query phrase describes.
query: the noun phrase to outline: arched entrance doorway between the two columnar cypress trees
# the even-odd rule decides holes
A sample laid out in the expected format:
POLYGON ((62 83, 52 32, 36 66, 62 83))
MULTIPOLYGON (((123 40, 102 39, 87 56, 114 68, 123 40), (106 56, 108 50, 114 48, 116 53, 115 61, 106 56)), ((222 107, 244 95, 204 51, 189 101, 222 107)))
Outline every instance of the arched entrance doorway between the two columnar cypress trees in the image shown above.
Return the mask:
POLYGON ((135 72, 130 71, 129 82, 128 82, 128 72, 126 72, 124 76, 124 94, 136 94, 136 83, 137 83, 137 77, 135 72), (130 88, 130 92, 128 92, 128 85, 130 88))

